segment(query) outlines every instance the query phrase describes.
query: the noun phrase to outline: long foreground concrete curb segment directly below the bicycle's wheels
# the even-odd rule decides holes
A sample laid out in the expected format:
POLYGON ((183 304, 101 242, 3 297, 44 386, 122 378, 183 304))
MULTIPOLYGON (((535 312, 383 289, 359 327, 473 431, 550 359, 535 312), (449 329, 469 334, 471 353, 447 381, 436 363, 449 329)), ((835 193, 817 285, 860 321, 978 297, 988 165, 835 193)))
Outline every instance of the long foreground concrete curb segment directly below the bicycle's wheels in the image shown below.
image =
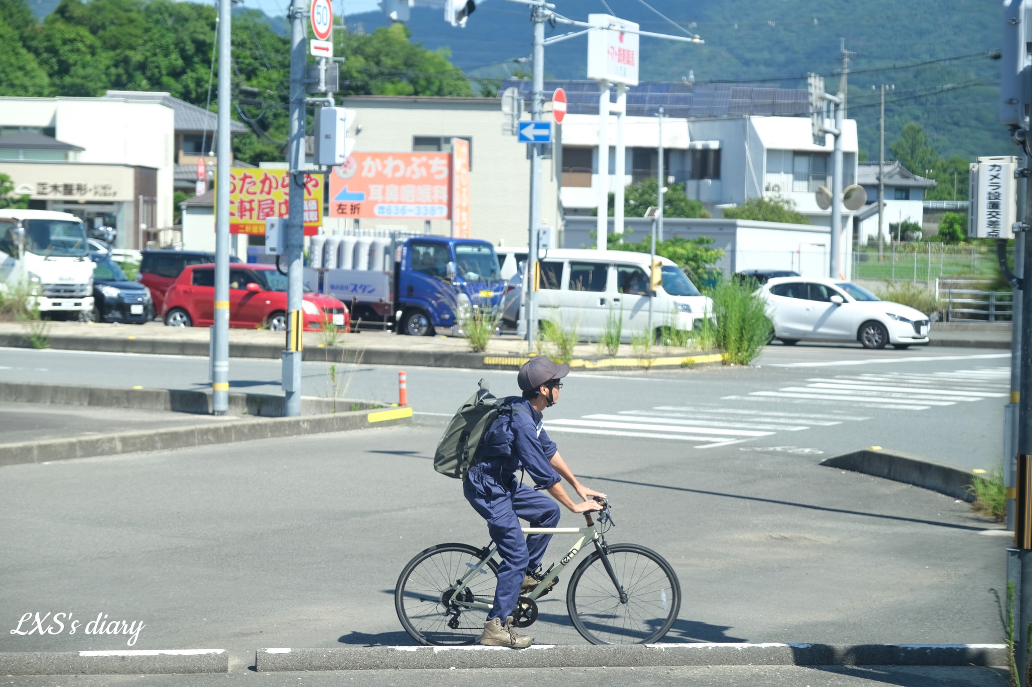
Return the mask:
POLYGON ((653 665, 1006 665, 1002 644, 650 644, 259 649, 255 668, 382 670, 653 665))

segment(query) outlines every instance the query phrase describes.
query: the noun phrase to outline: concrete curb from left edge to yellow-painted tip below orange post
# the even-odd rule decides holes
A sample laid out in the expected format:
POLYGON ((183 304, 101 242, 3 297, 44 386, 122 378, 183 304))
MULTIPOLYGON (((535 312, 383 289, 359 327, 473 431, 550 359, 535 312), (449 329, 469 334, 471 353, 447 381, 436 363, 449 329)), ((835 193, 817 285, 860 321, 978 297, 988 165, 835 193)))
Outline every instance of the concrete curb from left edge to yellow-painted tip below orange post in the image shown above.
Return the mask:
POLYGON ((118 432, 104 436, 79 436, 44 441, 0 444, 0 465, 42 463, 90 456, 114 456, 137 451, 171 451, 213 444, 341 432, 388 425, 410 424, 411 407, 354 411, 300 418, 230 420, 225 424, 192 425, 169 429, 118 432))

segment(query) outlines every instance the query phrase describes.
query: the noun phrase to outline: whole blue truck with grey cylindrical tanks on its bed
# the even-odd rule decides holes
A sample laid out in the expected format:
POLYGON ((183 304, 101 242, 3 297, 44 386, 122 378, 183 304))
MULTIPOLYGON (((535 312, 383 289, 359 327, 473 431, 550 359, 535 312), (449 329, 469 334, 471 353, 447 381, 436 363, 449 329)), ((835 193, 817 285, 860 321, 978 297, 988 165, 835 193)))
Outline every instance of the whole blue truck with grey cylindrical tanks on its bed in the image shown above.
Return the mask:
POLYGON ((490 242, 445 236, 319 236, 305 286, 340 298, 353 324, 398 334, 460 333, 461 314, 496 307, 507 284, 490 242))

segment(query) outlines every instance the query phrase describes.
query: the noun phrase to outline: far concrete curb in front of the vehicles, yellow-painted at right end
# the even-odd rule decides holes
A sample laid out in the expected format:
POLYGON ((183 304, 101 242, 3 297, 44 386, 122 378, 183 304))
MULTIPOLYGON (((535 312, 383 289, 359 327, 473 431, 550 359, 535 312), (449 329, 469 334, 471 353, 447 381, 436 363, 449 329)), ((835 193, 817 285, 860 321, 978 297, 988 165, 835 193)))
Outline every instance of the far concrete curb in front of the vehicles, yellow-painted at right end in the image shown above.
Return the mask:
MULTIPOLYGON (((150 338, 62 336, 47 337, 52 349, 94 353, 136 353, 151 355, 207 357, 206 341, 175 341, 150 338)), ((21 334, 0 334, 0 348, 31 349, 21 334)), ((283 347, 273 343, 229 343, 230 358, 280 360, 283 347)), ((515 369, 527 361, 524 356, 491 355, 470 351, 412 351, 408 349, 345 349, 341 347, 307 348, 309 362, 360 363, 366 365, 414 365, 420 367, 465 367, 472 369, 515 369)), ((578 358, 571 367, 583 369, 651 369, 694 367, 720 364, 719 354, 656 356, 654 358, 578 358)))

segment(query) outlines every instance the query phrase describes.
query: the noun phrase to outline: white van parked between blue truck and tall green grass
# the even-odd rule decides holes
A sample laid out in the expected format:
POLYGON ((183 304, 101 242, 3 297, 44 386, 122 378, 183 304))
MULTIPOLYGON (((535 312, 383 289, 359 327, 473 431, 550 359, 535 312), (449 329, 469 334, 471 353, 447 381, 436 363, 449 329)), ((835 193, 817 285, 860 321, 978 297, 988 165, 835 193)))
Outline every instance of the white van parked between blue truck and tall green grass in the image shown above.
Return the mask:
MULTIPOLYGON (((699 293, 680 267, 663 262, 663 286, 652 297, 652 327, 673 325, 690 330, 709 317, 712 301, 699 293)), ((538 318, 569 328, 576 323, 581 338, 599 340, 610 313, 623 321, 620 338, 648 328, 649 256, 628 251, 554 249, 541 261, 538 318)))

